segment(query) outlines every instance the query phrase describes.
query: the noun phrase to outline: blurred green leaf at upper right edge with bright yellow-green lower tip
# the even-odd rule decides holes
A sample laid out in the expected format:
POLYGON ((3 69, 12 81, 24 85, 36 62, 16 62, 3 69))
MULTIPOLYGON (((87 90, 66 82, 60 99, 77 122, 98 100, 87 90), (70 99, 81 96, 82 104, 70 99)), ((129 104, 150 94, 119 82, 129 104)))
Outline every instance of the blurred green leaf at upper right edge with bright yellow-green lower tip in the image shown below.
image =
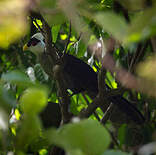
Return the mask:
POLYGON ((137 42, 156 34, 156 7, 148 9, 136 15, 127 29, 127 37, 124 43, 137 42))

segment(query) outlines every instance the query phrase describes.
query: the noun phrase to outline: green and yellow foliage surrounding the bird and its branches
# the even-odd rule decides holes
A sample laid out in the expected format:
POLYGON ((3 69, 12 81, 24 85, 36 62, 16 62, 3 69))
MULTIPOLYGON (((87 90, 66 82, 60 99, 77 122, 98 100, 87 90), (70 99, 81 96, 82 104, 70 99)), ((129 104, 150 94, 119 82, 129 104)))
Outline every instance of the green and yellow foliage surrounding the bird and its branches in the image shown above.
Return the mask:
MULTIPOLYGON (((148 3, 145 0, 1 0, 0 17, 0 154, 46 155, 56 145, 69 155, 128 155, 156 139, 154 0, 148 3), (117 9, 116 4, 120 6, 117 9), (123 92, 144 114, 143 126, 119 126, 110 121, 103 126, 98 122, 104 115, 99 108, 98 118, 93 114, 85 120, 74 118, 78 122, 57 129, 43 126, 40 112, 48 102, 58 103, 59 99, 56 81, 49 80, 41 66, 36 65, 33 53, 22 51, 31 35, 29 13, 37 8, 51 26, 53 44, 60 51, 65 48, 71 20, 67 49, 86 63, 90 59, 95 71, 99 71, 101 63, 86 51, 97 40, 115 38, 120 45, 113 53, 116 65, 144 80, 141 85, 145 87, 140 92, 135 87, 123 92), (138 51, 142 52, 138 54, 138 51)), ((109 70, 105 82, 111 88, 121 85, 116 74, 109 70)), ((78 115, 91 102, 89 96, 76 94, 71 97, 70 112, 78 115)))

